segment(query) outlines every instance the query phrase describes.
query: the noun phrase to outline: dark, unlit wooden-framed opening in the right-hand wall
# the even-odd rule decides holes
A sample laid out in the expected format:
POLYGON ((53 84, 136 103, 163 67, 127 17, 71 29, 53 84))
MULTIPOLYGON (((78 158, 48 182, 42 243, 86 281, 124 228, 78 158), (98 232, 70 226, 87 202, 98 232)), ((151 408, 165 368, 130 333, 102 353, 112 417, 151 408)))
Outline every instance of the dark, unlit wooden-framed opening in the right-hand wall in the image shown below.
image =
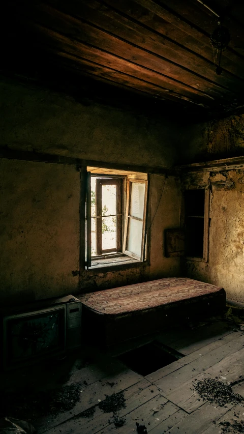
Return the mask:
POLYGON ((185 192, 185 241, 186 256, 207 261, 209 190, 197 189, 185 192))

